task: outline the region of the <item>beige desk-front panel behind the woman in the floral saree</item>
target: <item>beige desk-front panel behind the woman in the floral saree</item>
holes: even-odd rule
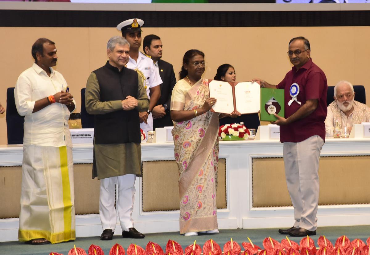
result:
[[[219,159],[217,208],[226,208],[226,160]],[[178,168],[174,160],[143,162],[143,211],[179,210]]]

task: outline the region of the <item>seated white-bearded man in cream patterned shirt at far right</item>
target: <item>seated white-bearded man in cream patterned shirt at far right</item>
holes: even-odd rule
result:
[[[334,101],[327,106],[325,119],[326,136],[333,137],[335,121],[339,128],[347,127],[351,132],[353,124],[370,121],[370,108],[364,103],[354,100],[353,85],[348,81],[340,81],[334,87]]]

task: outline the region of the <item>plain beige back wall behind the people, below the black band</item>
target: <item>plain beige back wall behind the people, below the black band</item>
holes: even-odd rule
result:
[[[232,27],[232,28],[146,28],[143,37],[158,34],[164,45],[163,59],[174,65],[176,78],[185,51],[197,48],[205,52],[208,65],[204,77],[213,78],[220,64],[234,65],[238,81],[255,77],[270,83],[280,82],[291,65],[286,55],[290,38],[304,35],[311,43],[313,61],[325,72],[329,85],[347,79],[370,91],[370,27]],[[0,27],[0,102],[5,104],[6,88],[14,86],[21,72],[31,66],[31,45],[39,37],[54,40],[58,65],[70,86],[80,111],[80,90],[91,71],[106,61],[106,44],[115,28]],[[343,35],[346,35],[343,40]],[[355,62],[356,60],[356,62]],[[370,92],[367,93],[370,102]],[[265,122],[263,122],[266,124]],[[6,130],[5,114],[0,129]],[[6,132],[0,133],[0,144],[6,144]]]

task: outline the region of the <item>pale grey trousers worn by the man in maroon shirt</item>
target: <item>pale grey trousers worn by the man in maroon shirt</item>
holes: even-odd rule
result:
[[[324,140],[311,136],[299,143],[284,142],[285,178],[294,207],[294,227],[314,231],[319,204],[319,160]]]

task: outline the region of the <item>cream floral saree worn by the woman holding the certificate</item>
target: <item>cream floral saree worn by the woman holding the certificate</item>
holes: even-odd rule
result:
[[[206,98],[209,98],[208,81],[201,79],[187,91],[184,110],[200,108]],[[208,111],[174,124],[180,234],[217,229],[218,114]]]

